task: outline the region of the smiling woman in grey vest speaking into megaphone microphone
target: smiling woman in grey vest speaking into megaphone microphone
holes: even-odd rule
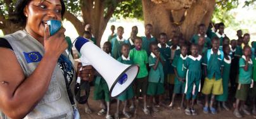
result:
[[[65,53],[65,28],[51,35],[47,24],[61,20],[64,13],[63,0],[17,0],[13,21],[25,29],[0,39],[0,110],[6,116],[79,118],[70,87],[76,75]],[[84,69],[79,76],[91,80],[93,68]]]

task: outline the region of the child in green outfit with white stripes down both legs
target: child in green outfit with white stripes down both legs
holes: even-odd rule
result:
[[[197,115],[194,108],[195,99],[200,91],[200,82],[202,77],[202,56],[198,54],[198,45],[191,45],[191,55],[186,58],[184,67],[186,72],[186,87],[184,93],[186,94],[187,107],[185,110],[186,115]],[[191,103],[192,98],[192,103]]]

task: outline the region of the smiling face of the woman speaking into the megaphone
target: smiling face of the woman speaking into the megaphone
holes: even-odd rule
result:
[[[30,35],[44,37],[44,25],[48,20],[61,20],[60,0],[32,0],[24,9],[27,16],[26,30]]]

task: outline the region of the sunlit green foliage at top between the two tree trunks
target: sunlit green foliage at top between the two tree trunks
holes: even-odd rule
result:
[[[130,0],[119,3],[113,16],[120,18],[137,18],[143,20],[141,0]]]

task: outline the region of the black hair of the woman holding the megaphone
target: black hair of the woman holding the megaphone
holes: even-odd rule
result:
[[[22,26],[25,26],[27,17],[24,15],[23,11],[27,4],[30,3],[31,0],[17,0],[15,4],[15,11],[10,15],[10,20],[13,23],[18,23]],[[41,0],[43,2],[44,0]],[[60,0],[61,3],[61,17],[63,17],[65,13],[65,3],[63,0]]]

